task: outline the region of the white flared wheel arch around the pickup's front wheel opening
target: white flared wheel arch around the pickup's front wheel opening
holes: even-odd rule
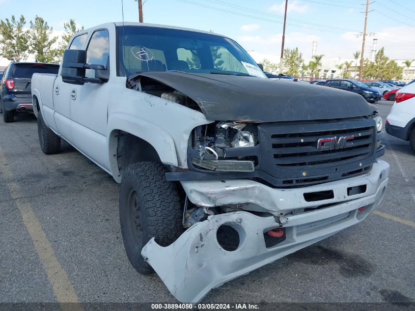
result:
[[[177,154],[174,141],[163,129],[144,119],[127,113],[112,113],[108,118],[107,144],[111,174],[116,182],[121,182],[117,158],[117,133],[124,131],[150,143],[162,163],[177,166]]]

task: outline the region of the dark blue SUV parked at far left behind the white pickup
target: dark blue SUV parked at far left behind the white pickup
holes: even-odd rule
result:
[[[59,65],[11,62],[0,82],[0,113],[4,122],[13,122],[17,112],[33,111],[30,81],[35,72],[57,74]]]

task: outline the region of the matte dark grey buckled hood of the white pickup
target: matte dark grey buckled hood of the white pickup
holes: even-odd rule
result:
[[[199,105],[209,120],[278,122],[371,115],[373,106],[353,92],[327,86],[245,76],[145,72]]]

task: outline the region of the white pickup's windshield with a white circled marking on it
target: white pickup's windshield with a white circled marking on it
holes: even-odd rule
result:
[[[178,70],[189,73],[241,74],[266,78],[235,41],[187,30],[118,27],[118,75]]]

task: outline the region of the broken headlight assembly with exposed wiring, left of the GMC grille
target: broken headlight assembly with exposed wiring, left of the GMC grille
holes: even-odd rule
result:
[[[254,147],[258,143],[257,127],[249,122],[217,122],[198,126],[193,132],[192,147],[198,152],[192,164],[200,169],[215,171],[254,171],[256,157],[226,155],[233,148]],[[195,154],[195,153],[193,153]],[[241,152],[242,154],[242,152]]]

